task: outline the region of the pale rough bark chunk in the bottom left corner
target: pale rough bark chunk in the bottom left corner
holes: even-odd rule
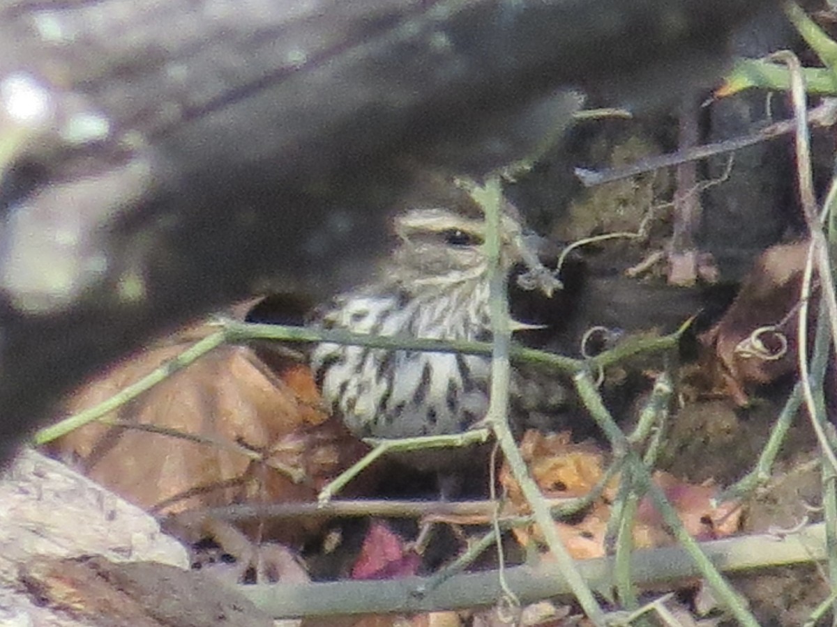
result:
[[[186,550],[162,533],[146,512],[34,451],[23,450],[0,476],[0,500],[3,624],[101,624],[91,619],[87,608],[98,609],[100,617],[107,619],[128,606],[131,599],[116,598],[116,590],[90,589],[88,582],[73,577],[78,567],[72,560],[84,556],[100,556],[101,563],[113,568],[126,562],[144,563],[135,568],[157,573],[158,585],[171,579],[172,573],[193,576],[184,570],[189,565]],[[217,599],[223,589],[216,586]],[[94,594],[103,592],[109,595],[106,600],[116,601],[110,608]],[[204,601],[207,598],[204,595]],[[188,604],[183,605],[184,613],[186,609]]]

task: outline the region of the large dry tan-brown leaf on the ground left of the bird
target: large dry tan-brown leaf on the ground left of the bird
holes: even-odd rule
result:
[[[67,401],[68,413],[110,398],[212,331],[187,329],[168,344],[136,354],[76,391]],[[363,451],[321,410],[307,367],[288,363],[276,372],[245,346],[215,349],[108,419],[202,439],[90,424],[52,446],[96,482],[157,512],[311,501],[318,487]],[[305,481],[295,482],[285,471]],[[284,527],[292,533],[280,539],[289,543],[306,534],[305,525]]]

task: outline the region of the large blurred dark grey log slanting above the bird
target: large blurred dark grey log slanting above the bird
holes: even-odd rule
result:
[[[417,164],[511,161],[566,124],[568,85],[650,102],[711,80],[757,9],[3,0],[0,457],[152,334],[351,280]]]

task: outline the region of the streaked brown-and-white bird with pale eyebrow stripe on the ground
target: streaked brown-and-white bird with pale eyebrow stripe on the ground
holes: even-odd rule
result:
[[[408,203],[395,217],[398,245],[377,280],[336,297],[321,308],[315,324],[362,334],[489,340],[480,207],[460,189],[448,198]],[[537,258],[529,252],[526,237],[521,218],[507,205],[501,264],[510,275],[516,267],[531,270]],[[490,359],[482,355],[319,344],[311,364],[326,401],[357,436],[459,433],[475,426],[488,408]],[[556,417],[566,412],[570,395],[555,375],[516,368],[511,399],[511,421],[520,430],[557,426]],[[458,465],[457,457],[453,451],[433,451],[411,456],[408,463],[439,470]]]

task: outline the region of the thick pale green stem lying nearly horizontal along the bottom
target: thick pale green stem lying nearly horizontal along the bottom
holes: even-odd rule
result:
[[[824,558],[824,524],[810,525],[783,538],[770,534],[738,536],[702,543],[701,547],[713,562],[730,572],[811,563]],[[639,549],[634,552],[632,562],[634,581],[644,587],[700,576],[681,547]],[[586,559],[578,567],[597,587],[608,580],[614,569],[612,558]],[[570,594],[561,573],[550,563],[513,566],[508,568],[507,575],[513,589],[527,602]],[[275,618],[465,609],[489,605],[498,593],[496,572],[463,573],[437,589],[429,589],[430,581],[430,578],[343,580],[326,584],[242,585],[236,589]]]

